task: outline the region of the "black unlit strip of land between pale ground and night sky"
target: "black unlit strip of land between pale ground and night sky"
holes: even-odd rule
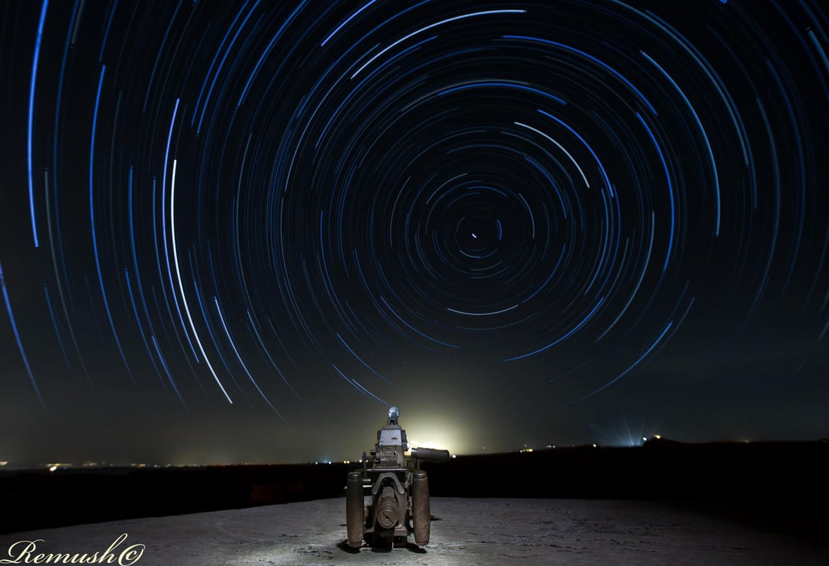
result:
[[[2,532],[342,496],[359,463],[0,473]],[[825,541],[829,442],[556,447],[422,462],[435,497],[658,501]]]

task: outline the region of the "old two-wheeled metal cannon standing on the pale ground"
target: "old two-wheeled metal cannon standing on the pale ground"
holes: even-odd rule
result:
[[[445,462],[448,450],[412,448],[406,432],[397,423],[400,409],[389,409],[389,420],[377,431],[371,458],[363,452],[362,467],[349,472],[346,486],[348,545],[359,548],[363,540],[371,546],[391,549],[395,541],[429,543],[429,480],[419,469],[420,460]]]

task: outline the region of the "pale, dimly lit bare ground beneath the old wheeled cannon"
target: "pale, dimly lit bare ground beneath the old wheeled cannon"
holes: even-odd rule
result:
[[[800,542],[643,501],[434,497],[432,514],[425,549],[352,554],[345,499],[337,498],[0,535],[0,564],[20,540],[44,539],[31,561],[38,553],[103,553],[122,533],[112,564],[131,544],[146,545],[136,566],[829,564],[829,535],[827,544]]]

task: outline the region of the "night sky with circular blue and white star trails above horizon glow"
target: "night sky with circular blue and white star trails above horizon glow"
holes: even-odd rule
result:
[[[829,436],[811,0],[11,0],[0,461]]]

